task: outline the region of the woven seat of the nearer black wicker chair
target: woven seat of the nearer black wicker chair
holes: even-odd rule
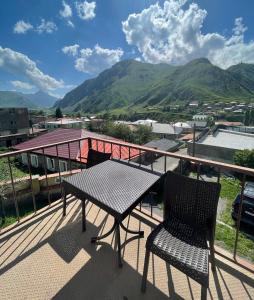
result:
[[[209,250],[206,232],[171,218],[158,225],[146,244],[152,251],[197,282],[208,287]]]

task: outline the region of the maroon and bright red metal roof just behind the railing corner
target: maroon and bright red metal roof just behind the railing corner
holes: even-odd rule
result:
[[[60,142],[64,142],[67,140],[78,139],[78,138],[86,137],[86,136],[108,139],[108,140],[112,140],[115,142],[121,141],[119,139],[115,139],[110,136],[97,134],[94,132],[89,132],[87,130],[59,128],[54,131],[40,135],[40,136],[33,138],[29,141],[26,141],[24,143],[18,144],[14,148],[16,150],[25,150],[28,148],[45,146],[45,145],[52,144],[52,143],[60,143]],[[110,153],[111,152],[111,143],[103,143],[100,141],[97,142],[96,140],[92,140],[92,148],[94,150],[97,150],[100,152],[105,151],[106,153]],[[33,151],[33,152],[41,154],[42,150]],[[56,147],[46,148],[46,149],[44,149],[44,153],[45,153],[45,155],[48,155],[48,156],[57,156]],[[70,143],[70,158],[72,160],[79,161],[80,160],[79,153],[80,153],[79,142]],[[86,162],[87,154],[88,154],[88,141],[84,140],[84,141],[81,141],[82,162]],[[130,158],[136,157],[138,155],[139,155],[139,150],[130,148]],[[64,158],[64,159],[69,158],[69,150],[68,150],[67,144],[58,146],[58,156],[60,158]],[[112,145],[112,157],[116,158],[116,159],[118,159],[118,158],[128,159],[129,158],[129,148],[127,146]]]

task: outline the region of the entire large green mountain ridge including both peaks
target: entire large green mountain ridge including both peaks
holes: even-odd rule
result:
[[[183,66],[126,60],[86,80],[55,106],[96,113],[131,106],[164,106],[179,101],[250,100],[254,99],[253,70],[254,65],[223,70],[206,58]]]

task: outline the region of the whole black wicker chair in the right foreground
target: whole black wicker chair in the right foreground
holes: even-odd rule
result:
[[[215,271],[214,233],[220,184],[168,172],[164,186],[164,222],[148,236],[142,278],[146,290],[150,252],[201,284],[201,299],[209,286],[209,250]]]

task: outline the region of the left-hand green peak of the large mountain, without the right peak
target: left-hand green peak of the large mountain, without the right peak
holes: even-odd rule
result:
[[[175,69],[167,64],[121,61],[98,77],[86,80],[55,106],[91,112],[124,107],[140,98]]]

